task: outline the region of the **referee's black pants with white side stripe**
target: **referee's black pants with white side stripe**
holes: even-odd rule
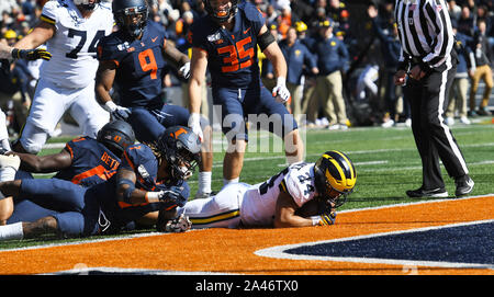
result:
[[[457,72],[456,59],[446,61],[419,81],[408,79],[404,95],[412,107],[412,132],[422,158],[423,189],[445,187],[439,158],[449,176],[468,174],[467,164],[442,118],[444,104]]]

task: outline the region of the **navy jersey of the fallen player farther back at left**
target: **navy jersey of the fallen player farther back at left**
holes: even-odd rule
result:
[[[119,157],[103,144],[90,137],[72,139],[65,145],[65,148],[70,152],[72,163],[54,176],[60,180],[91,186],[110,180],[120,165]]]

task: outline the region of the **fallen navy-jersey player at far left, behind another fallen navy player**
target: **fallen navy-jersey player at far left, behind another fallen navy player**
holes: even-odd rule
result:
[[[97,139],[87,136],[72,139],[58,153],[35,156],[10,151],[7,156],[0,156],[0,181],[33,179],[31,172],[57,172],[54,179],[91,186],[116,173],[122,153],[134,142],[135,136],[131,125],[124,121],[113,121],[98,132]],[[20,157],[20,167],[16,157]],[[16,167],[20,170],[15,173]],[[29,198],[16,196],[1,199],[0,225],[20,220],[32,221],[52,213],[46,213],[45,208]]]

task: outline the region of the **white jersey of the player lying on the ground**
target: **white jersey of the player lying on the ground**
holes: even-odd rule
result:
[[[240,206],[243,224],[271,226],[280,191],[289,193],[299,207],[313,199],[316,194],[314,163],[293,163],[267,182],[246,191]]]

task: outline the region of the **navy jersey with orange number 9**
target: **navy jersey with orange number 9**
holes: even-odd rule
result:
[[[167,43],[165,28],[147,22],[141,41],[128,37],[122,30],[102,38],[98,45],[98,59],[113,61],[116,67],[115,89],[120,104],[126,107],[162,103],[162,56]]]

